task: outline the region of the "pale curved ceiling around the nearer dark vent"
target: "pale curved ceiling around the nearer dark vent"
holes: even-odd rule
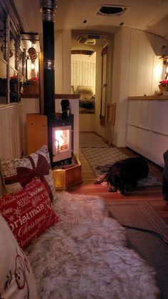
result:
[[[42,34],[39,0],[14,0],[23,31]],[[97,16],[99,6],[121,5],[130,9],[122,16]],[[83,23],[86,21],[86,23]],[[168,0],[58,0],[55,29],[114,34],[122,26],[144,30],[168,41]]]

